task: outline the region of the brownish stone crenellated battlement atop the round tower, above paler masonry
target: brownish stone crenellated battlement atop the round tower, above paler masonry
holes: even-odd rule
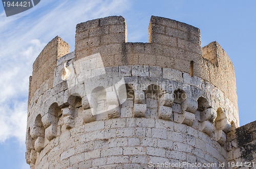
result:
[[[100,53],[104,67],[148,65],[177,69],[215,85],[237,108],[234,68],[217,42],[202,50],[198,28],[156,16],[151,17],[148,34],[149,43],[127,43],[126,24],[121,16],[79,23],[76,27],[75,58],[78,60]],[[42,82],[53,78],[56,60],[68,54],[69,49],[69,45],[59,37],[46,45],[33,66],[33,75],[37,78],[32,78],[32,84],[36,84],[30,88],[32,95]],[[37,75],[39,68],[41,71]]]

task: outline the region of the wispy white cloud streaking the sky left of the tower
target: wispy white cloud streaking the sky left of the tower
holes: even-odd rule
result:
[[[75,27],[89,19],[118,15],[129,1],[41,1],[11,17],[0,14],[0,142],[25,142],[27,96],[32,64],[56,35],[74,49]]]

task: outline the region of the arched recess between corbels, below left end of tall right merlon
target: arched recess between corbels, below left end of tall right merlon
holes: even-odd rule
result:
[[[164,94],[164,90],[156,84],[148,85],[145,91],[147,118],[158,118],[159,99]]]

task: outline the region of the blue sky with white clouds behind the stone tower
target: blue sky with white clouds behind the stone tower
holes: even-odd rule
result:
[[[255,6],[255,1],[42,0],[28,11],[6,17],[0,4],[1,166],[29,168],[25,161],[28,85],[40,51],[56,35],[74,51],[76,24],[109,15],[125,18],[129,42],[148,41],[151,15],[200,28],[202,46],[218,41],[233,62],[240,126],[256,120]]]

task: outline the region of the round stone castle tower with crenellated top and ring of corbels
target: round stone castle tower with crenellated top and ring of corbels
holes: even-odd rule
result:
[[[255,161],[256,123],[238,128],[222,47],[201,48],[198,28],[162,17],[151,17],[148,34],[148,43],[126,42],[124,18],[110,16],[79,23],[74,52],[58,36],[45,46],[29,85],[31,168]]]

